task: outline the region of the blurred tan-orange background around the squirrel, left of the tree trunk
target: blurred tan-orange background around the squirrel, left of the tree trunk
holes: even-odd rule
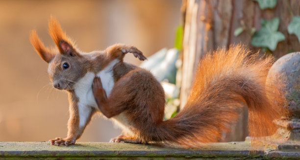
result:
[[[29,42],[36,29],[54,47],[50,15],[84,52],[125,43],[150,56],[174,46],[180,6],[181,0],[0,0],[0,141],[66,137],[67,94],[49,84],[48,64]],[[125,61],[140,64],[130,54]],[[120,132],[96,115],[78,141],[105,142]]]

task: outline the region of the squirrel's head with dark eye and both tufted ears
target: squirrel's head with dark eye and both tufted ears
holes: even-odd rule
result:
[[[73,90],[75,83],[87,72],[86,59],[75,49],[57,20],[52,17],[49,22],[49,32],[58,51],[46,48],[35,30],[30,35],[31,44],[41,58],[49,64],[48,74],[53,87]]]

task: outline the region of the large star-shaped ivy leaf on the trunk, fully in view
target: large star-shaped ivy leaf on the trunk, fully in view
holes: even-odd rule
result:
[[[261,25],[261,29],[254,33],[251,44],[255,47],[268,47],[274,51],[277,43],[285,39],[284,35],[277,31],[279,18],[276,17],[270,21],[262,20]]]

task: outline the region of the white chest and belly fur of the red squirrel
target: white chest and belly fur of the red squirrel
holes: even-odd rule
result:
[[[119,60],[113,60],[108,64],[106,68],[104,68],[97,74],[97,77],[100,77],[101,79],[103,89],[105,90],[108,97],[114,86],[113,66],[118,62]],[[79,99],[79,127],[85,125],[86,120],[90,114],[91,107],[99,110],[92,91],[94,78],[95,74],[93,72],[88,72],[75,84],[75,95]],[[127,129],[129,123],[124,113],[120,113],[114,117],[111,117],[111,120],[113,120],[119,127],[130,133],[130,131]]]

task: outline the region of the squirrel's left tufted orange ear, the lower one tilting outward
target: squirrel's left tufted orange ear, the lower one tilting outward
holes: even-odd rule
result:
[[[30,34],[30,42],[34,47],[35,51],[44,59],[47,63],[49,63],[55,54],[51,53],[48,48],[45,47],[43,42],[40,40],[35,30],[31,31]]]

